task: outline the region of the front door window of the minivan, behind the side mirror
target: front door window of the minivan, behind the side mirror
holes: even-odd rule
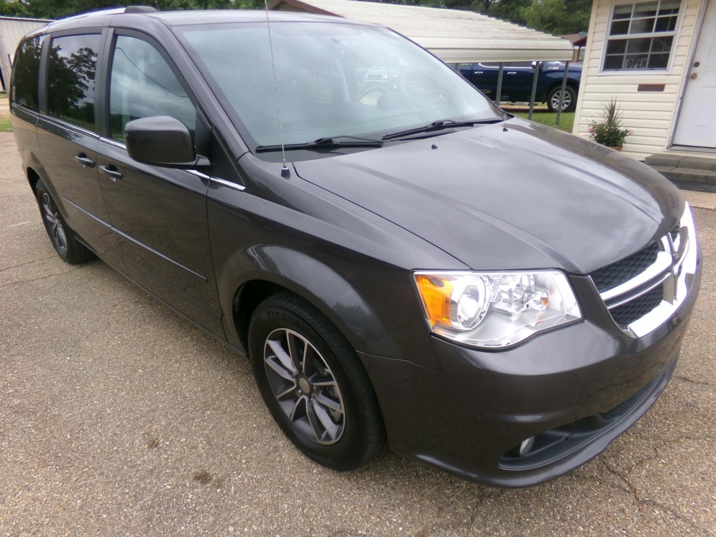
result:
[[[135,37],[115,42],[110,80],[110,130],[124,140],[125,125],[141,117],[168,115],[194,133],[196,110],[161,54]]]

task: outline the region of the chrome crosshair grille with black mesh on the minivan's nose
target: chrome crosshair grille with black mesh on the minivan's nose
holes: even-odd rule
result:
[[[632,337],[643,337],[683,303],[696,273],[697,251],[687,204],[681,222],[669,233],[590,276],[616,325]]]

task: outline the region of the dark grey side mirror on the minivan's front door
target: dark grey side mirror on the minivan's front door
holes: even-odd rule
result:
[[[128,122],[125,144],[130,158],[140,163],[165,168],[208,165],[206,158],[196,155],[189,129],[174,117],[142,117]]]

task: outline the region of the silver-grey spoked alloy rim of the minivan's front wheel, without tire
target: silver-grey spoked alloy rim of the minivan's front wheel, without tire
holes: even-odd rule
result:
[[[346,425],[343,397],[318,349],[298,332],[276,329],[266,338],[263,364],[294,427],[319,444],[338,442]]]

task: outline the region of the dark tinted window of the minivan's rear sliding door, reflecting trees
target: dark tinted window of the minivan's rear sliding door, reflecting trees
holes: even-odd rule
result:
[[[100,34],[52,39],[47,73],[49,115],[95,130],[95,71]]]

